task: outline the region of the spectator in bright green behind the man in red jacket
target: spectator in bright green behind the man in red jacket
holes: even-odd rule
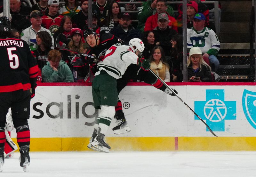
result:
[[[139,10],[139,13],[138,13],[138,20],[139,20],[138,28],[140,29],[141,32],[149,30],[149,29],[144,30],[145,22],[147,21],[148,17],[157,13],[155,9],[156,9],[156,3],[158,1],[159,0],[148,0],[147,2],[144,2],[142,4],[142,6],[140,7],[140,10]],[[160,12],[160,13],[162,13],[162,12]],[[167,5],[166,10],[164,11],[164,13],[167,13],[170,16],[174,17],[173,9],[169,5]],[[156,17],[156,21],[157,21],[157,17]],[[155,21],[155,23],[156,23],[156,21]],[[156,25],[155,25],[155,27],[156,27]],[[151,29],[151,30],[153,30],[153,29]]]

